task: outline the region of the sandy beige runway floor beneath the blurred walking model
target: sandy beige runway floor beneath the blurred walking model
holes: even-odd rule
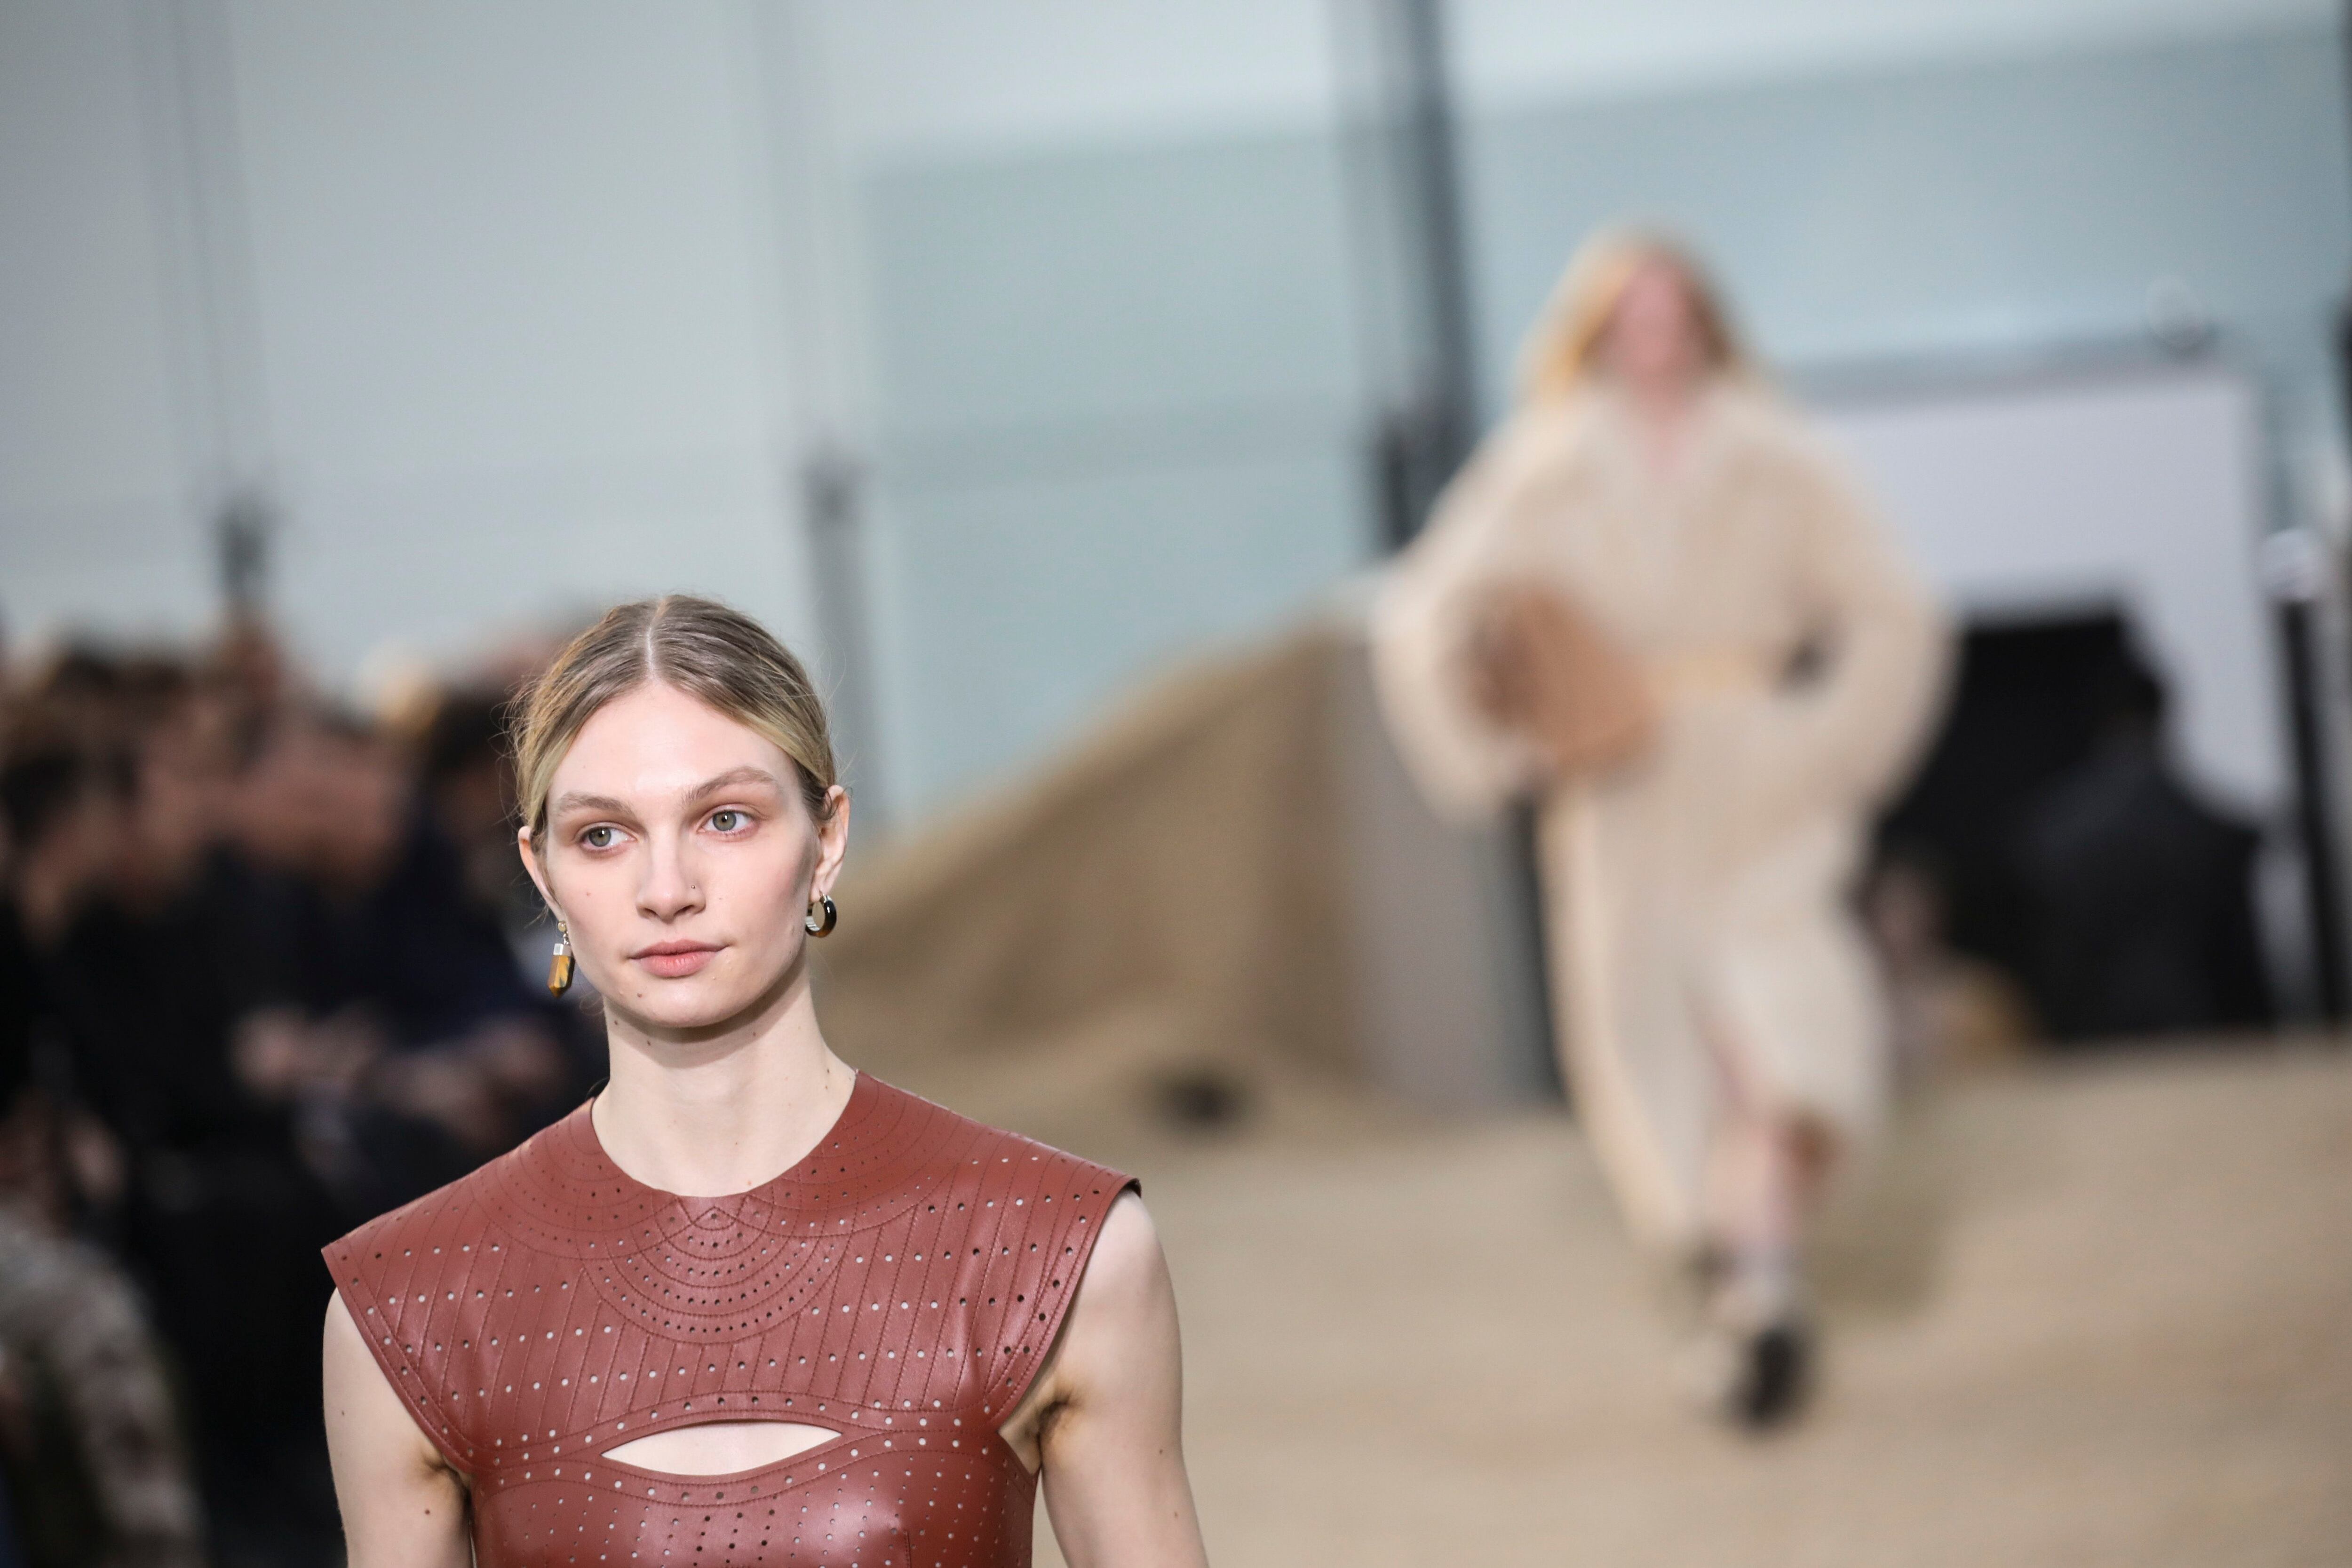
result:
[[[1117,1143],[1221,1568],[2352,1563],[2340,1046],[1915,1103],[1823,1246],[1820,1399],[1769,1441],[1682,1399],[1672,1295],[1564,1117],[1277,1103]]]

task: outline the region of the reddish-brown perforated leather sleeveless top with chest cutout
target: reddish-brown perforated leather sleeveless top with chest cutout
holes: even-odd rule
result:
[[[1000,1568],[1030,1561],[1037,1479],[997,1425],[1129,1185],[858,1074],[753,1192],[630,1180],[583,1105],[327,1265],[468,1479],[482,1568]],[[840,1436],[727,1476],[602,1458],[717,1420]]]

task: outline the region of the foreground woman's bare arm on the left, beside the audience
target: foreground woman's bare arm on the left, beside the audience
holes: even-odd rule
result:
[[[327,1305],[325,1373],[350,1568],[468,1568],[466,1483],[383,1380],[341,1295]]]

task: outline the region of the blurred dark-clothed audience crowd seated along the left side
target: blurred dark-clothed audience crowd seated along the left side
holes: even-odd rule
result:
[[[517,961],[534,905],[499,701],[452,691],[393,731],[306,693],[254,625],[202,656],[75,649],[7,693],[0,1030],[42,1107],[9,1192],[47,1220],[0,1222],[0,1251],[45,1258],[0,1262],[0,1349],[66,1321],[132,1366],[151,1319],[223,1563],[339,1561],[301,1349],[332,1288],[318,1248],[546,1126],[595,1072],[600,1032]],[[118,1406],[153,1418],[162,1389]],[[106,1420],[129,1418],[89,1406],[85,1427]],[[151,1453],[176,1453],[162,1436]],[[167,1561],[136,1521],[169,1509],[85,1472],[122,1521],[108,1540]],[[7,1481],[35,1568],[118,1561],[54,1556],[35,1535],[56,1479]],[[193,1502],[179,1519],[195,1561]]]

